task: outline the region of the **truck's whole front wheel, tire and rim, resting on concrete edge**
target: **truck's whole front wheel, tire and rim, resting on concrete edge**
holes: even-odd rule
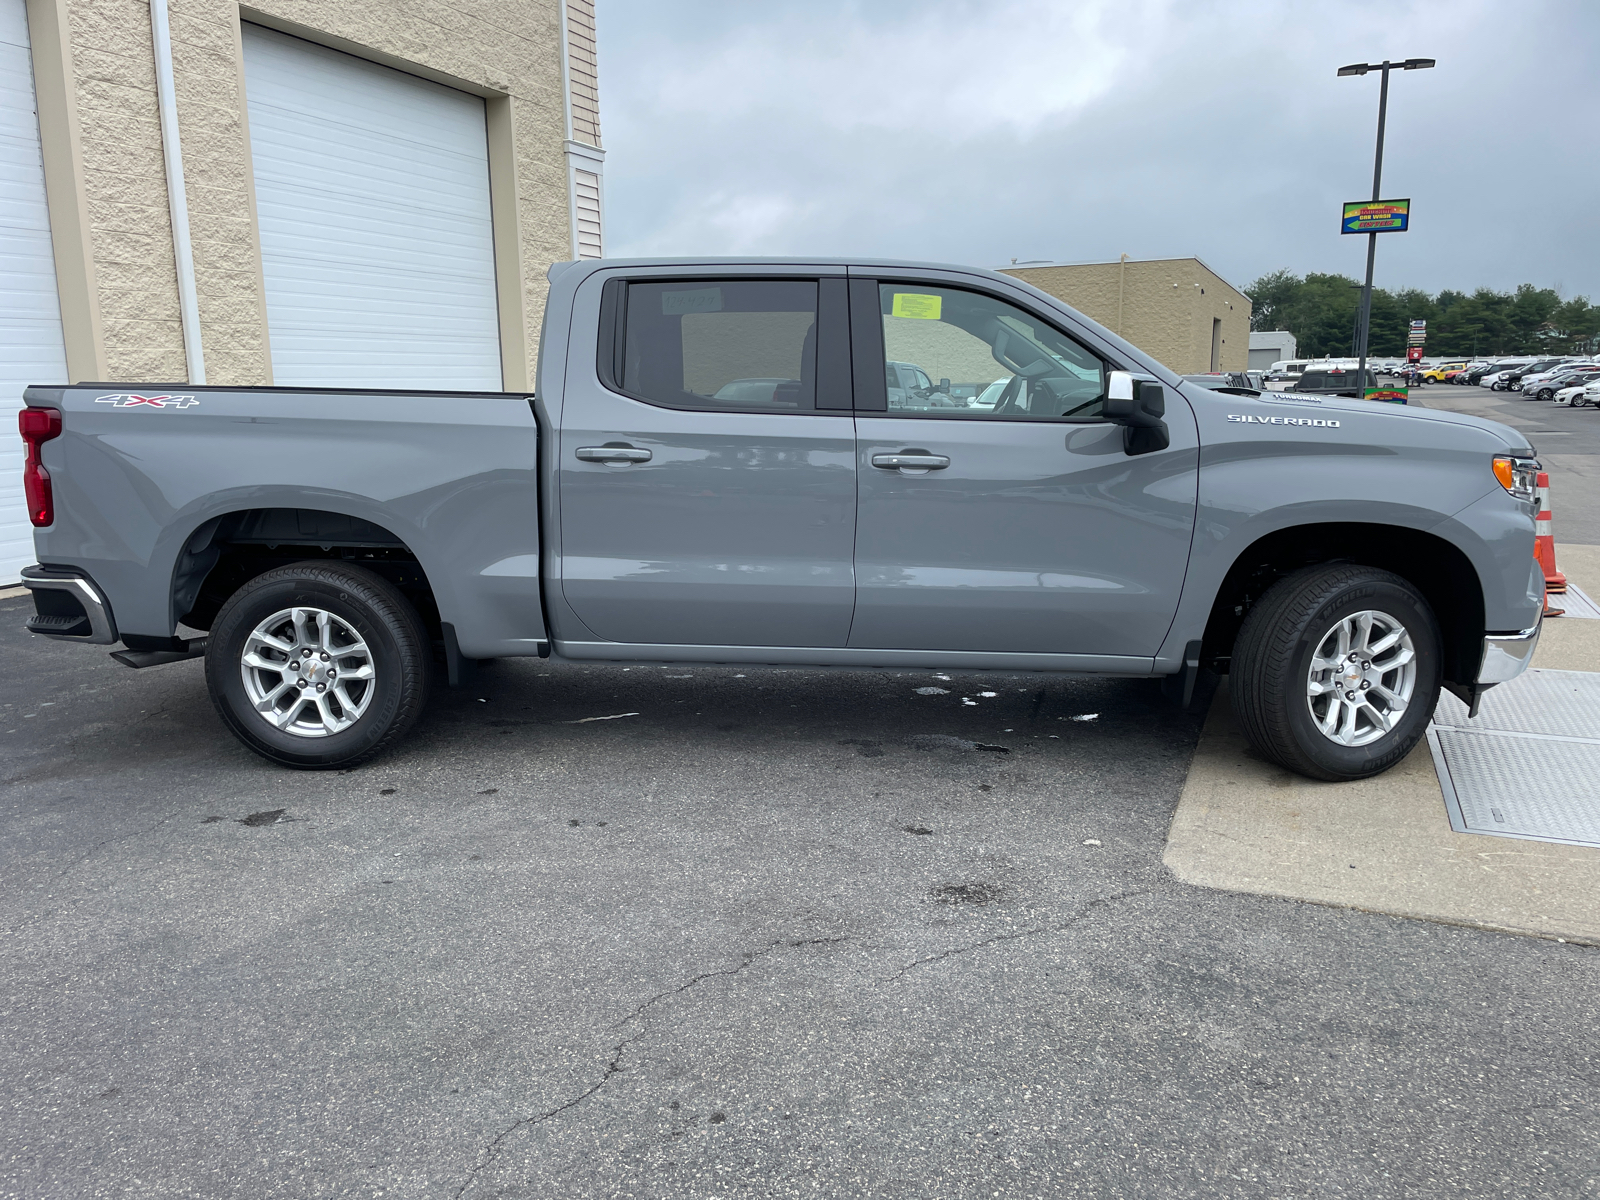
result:
[[[1309,566],[1250,610],[1230,688],[1245,736],[1310,779],[1365,779],[1411,752],[1438,702],[1427,600],[1371,566]]]

